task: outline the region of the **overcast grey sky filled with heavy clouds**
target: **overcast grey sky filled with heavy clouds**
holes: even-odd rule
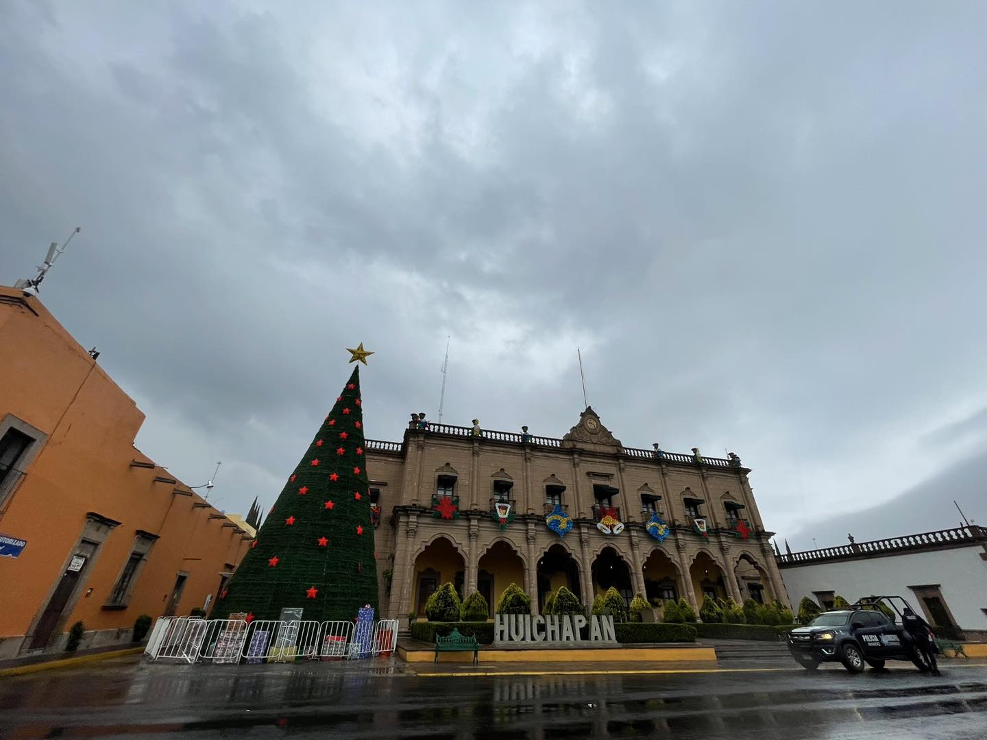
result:
[[[279,491],[343,347],[397,440],[450,335],[445,421],[561,436],[578,345],[616,436],[736,451],[793,548],[954,526],[952,498],[987,523],[985,28],[978,1],[6,0],[0,281],[81,225],[42,299],[231,511]]]

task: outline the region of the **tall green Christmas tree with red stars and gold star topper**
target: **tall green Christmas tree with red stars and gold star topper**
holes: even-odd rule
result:
[[[360,344],[353,359],[370,354]],[[212,619],[351,621],[377,606],[359,367],[274,502],[252,548],[219,594]]]

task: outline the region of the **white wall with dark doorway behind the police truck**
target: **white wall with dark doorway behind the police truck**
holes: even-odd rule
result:
[[[864,596],[903,596],[922,614],[909,586],[939,585],[960,629],[987,629],[987,560],[979,547],[903,553],[781,568],[794,609],[813,591],[833,591],[850,602]]]

